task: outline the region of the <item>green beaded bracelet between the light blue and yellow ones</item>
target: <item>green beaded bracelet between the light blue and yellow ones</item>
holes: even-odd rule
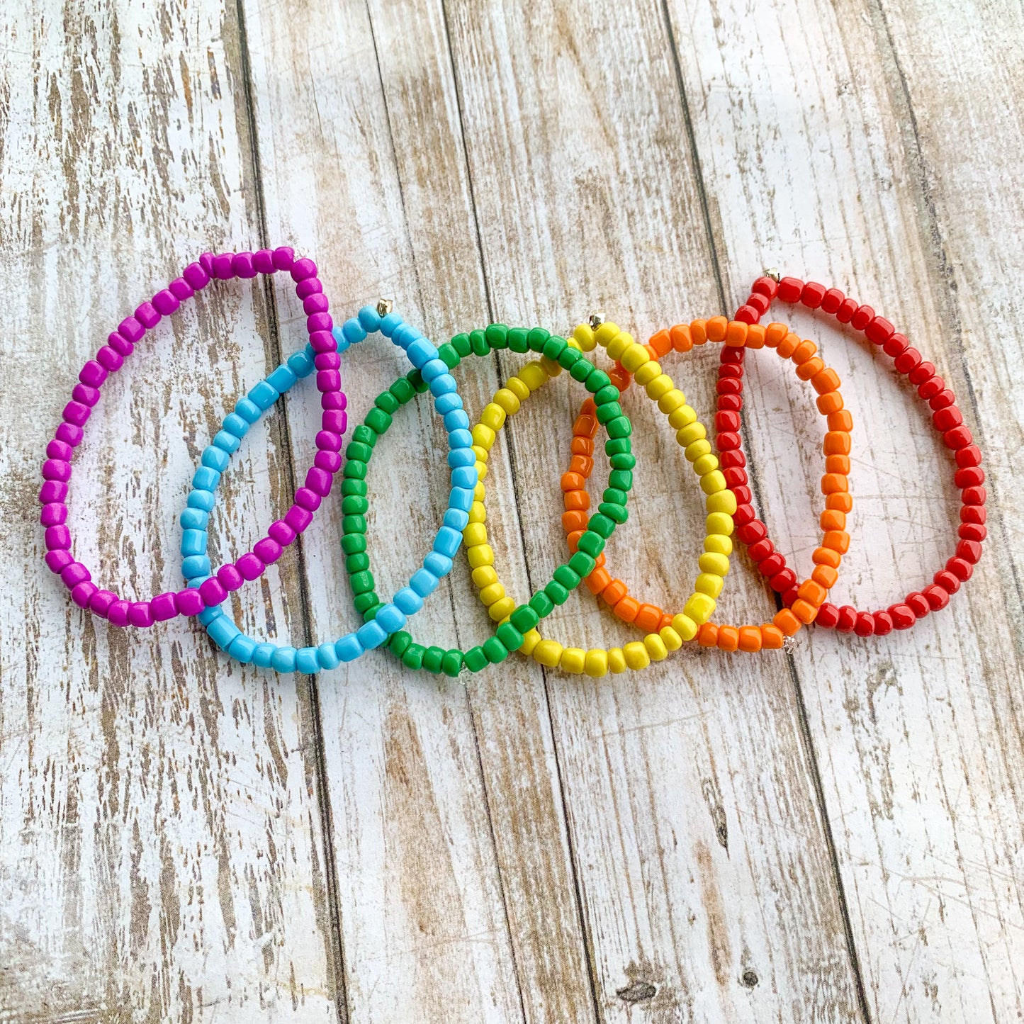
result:
[[[488,355],[494,349],[508,348],[514,352],[537,352],[552,362],[557,362],[569,372],[574,380],[583,383],[594,397],[600,398],[598,409],[602,411],[602,422],[608,433],[605,442],[605,453],[609,459],[616,455],[630,454],[632,451],[630,435],[633,428],[629,418],[618,406],[618,389],[603,370],[599,370],[583,353],[571,347],[565,338],[552,335],[543,328],[508,328],[504,324],[492,324],[485,331],[471,331],[469,334],[456,335],[451,343],[438,346],[438,355],[450,370],[456,367],[467,355]],[[352,440],[345,449],[347,460],[355,460],[369,466],[378,438],[387,432],[391,425],[391,415],[406,404],[414,394],[427,389],[418,370],[414,370],[378,395],[374,409],[370,411],[362,424],[352,431]],[[475,438],[474,438],[475,440]],[[478,463],[478,468],[479,468]],[[614,463],[612,464],[614,468]],[[356,610],[366,622],[376,615],[383,602],[377,596],[373,571],[370,567],[370,556],[367,550],[367,520],[370,502],[366,482],[367,473],[350,476],[343,471],[342,480],[342,538],[341,547],[345,553],[345,569],[354,595]],[[555,570],[551,583],[539,590],[526,604],[515,607],[511,614],[499,625],[495,636],[483,644],[471,647],[467,651],[453,648],[444,650],[441,647],[425,647],[416,643],[412,636],[401,630],[395,633],[387,646],[392,653],[401,658],[402,664],[410,669],[426,669],[429,672],[441,673],[447,676],[458,676],[465,667],[471,672],[479,672],[487,665],[496,665],[505,660],[511,651],[518,650],[526,642],[526,636],[534,631],[541,618],[554,610],[554,603],[548,592],[562,587],[569,589],[579,586],[596,564],[596,558],[604,549],[605,542],[611,536],[617,522],[625,522],[627,517],[626,500],[629,487],[622,489],[622,502],[616,503],[605,522],[601,517],[601,532],[588,529],[580,538],[577,553],[564,565]],[[610,509],[610,506],[609,506]],[[465,526],[464,537],[470,543],[474,523]]]

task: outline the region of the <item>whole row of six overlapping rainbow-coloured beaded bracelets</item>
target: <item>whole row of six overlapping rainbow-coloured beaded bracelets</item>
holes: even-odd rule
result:
[[[187,586],[145,601],[128,601],[92,582],[89,570],[71,554],[71,532],[65,504],[71,477],[71,458],[81,442],[83,428],[99,399],[108,376],[121,369],[124,359],[164,316],[174,313],[180,303],[204,289],[211,280],[251,279],[257,273],[288,272],[306,313],[308,344],[280,366],[265,380],[241,398],[221,425],[211,444],[203,452],[193,478],[186,507],[181,513],[182,574]],[[840,380],[817,354],[809,340],[793,334],[785,325],[762,327],[761,316],[774,299],[822,309],[840,324],[849,324],[863,333],[894,359],[896,369],[918,388],[929,403],[934,427],[953,453],[954,482],[961,490],[962,510],[958,543],[945,566],[920,592],[908,594],[887,609],[858,612],[850,605],[837,606],[827,600],[838,580],[843,554],[850,537],[847,516],[852,508],[847,476],[850,469],[850,430],[853,421],[839,390]],[[369,334],[390,338],[408,354],[413,370],[380,394],[364,423],[356,427],[344,447],[346,401],[341,390],[341,355],[351,344]],[[671,351],[687,352],[706,342],[723,343],[718,381],[718,410],[715,416],[715,443],[712,451],[708,431],[685,395],[664,373],[659,359]],[[585,357],[597,346],[615,360],[609,373]],[[742,452],[740,414],[742,370],[748,348],[775,348],[796,366],[797,376],[817,392],[818,411],[827,420],[822,444],[825,471],[821,490],[825,508],[821,513],[823,531],[820,547],[812,556],[814,570],[798,584],[785,558],[775,550],[767,527],[757,517],[748,486]],[[500,388],[470,428],[458,386],[451,371],[468,355],[486,356],[496,349],[536,353],[539,359],[526,364]],[[569,560],[552,580],[525,604],[508,596],[495,567],[495,552],[488,544],[484,508],[483,477],[498,432],[522,401],[551,377],[567,370],[590,392],[573,426],[569,466],[561,480],[564,512],[562,525],[570,549]],[[294,504],[271,524],[267,536],[238,561],[213,573],[207,556],[207,528],[215,505],[215,493],[230,456],[239,450],[249,427],[298,380],[316,371],[323,414],[316,434],[316,456],[304,485],[297,488]],[[627,500],[633,485],[636,459],[632,453],[632,426],[620,404],[621,391],[633,378],[655,401],[676,431],[676,440],[692,464],[703,494],[707,513],[703,553],[693,592],[676,614],[659,606],[641,603],[625,583],[612,579],[605,564],[604,547],[615,525],[627,518]],[[449,508],[422,566],[392,601],[383,602],[375,591],[367,543],[366,515],[370,508],[367,474],[374,447],[388,430],[392,416],[417,393],[430,391],[434,408],[442,418],[449,436],[447,463],[451,470]],[[595,515],[589,516],[590,498],[586,482],[594,468],[594,437],[600,426],[607,432],[605,452],[610,463],[608,486]],[[541,328],[507,328],[493,324],[484,330],[456,335],[450,343],[434,347],[415,328],[393,313],[390,304],[375,309],[367,306],[356,317],[336,327],[329,302],[309,259],[296,259],[287,247],[256,253],[206,253],[184,268],[167,289],[143,302],[113,332],[105,345],[79,375],[72,400],[65,408],[62,422],[47,446],[43,464],[44,483],[40,492],[40,516],[45,526],[46,562],[71,590],[72,599],[84,609],[105,617],[115,626],[148,627],[175,615],[196,615],[211,638],[236,660],[252,663],[280,672],[312,673],[337,668],[368,650],[386,646],[411,669],[427,669],[458,675],[463,668],[477,672],[503,662],[510,652],[522,651],[548,668],[598,677],[606,672],[638,670],[666,658],[688,641],[722,650],[758,651],[779,649],[786,638],[802,626],[815,622],[860,636],[885,635],[907,629],[931,611],[944,607],[949,596],[970,579],[981,556],[985,539],[984,471],[981,453],[964,424],[952,391],[937,376],[935,367],[924,360],[916,349],[898,334],[892,324],[867,306],[858,305],[837,289],[825,289],[795,278],[759,278],[752,294],[733,321],[724,316],[696,319],[688,325],[656,332],[648,344],[637,344],[614,324],[592,319],[581,325],[571,338],[552,335]],[[342,470],[342,548],[355,608],[362,625],[334,642],[296,649],[287,645],[260,643],[246,636],[224,612],[222,604],[231,591],[257,579],[275,562],[285,547],[312,521],[313,514],[332,490],[334,477]],[[710,622],[729,571],[733,538],[746,546],[761,573],[782,602],[771,623],[761,626],[724,626]],[[480,600],[496,624],[494,636],[466,651],[424,646],[406,631],[411,615],[422,606],[440,580],[452,569],[460,546],[467,558]],[[541,618],[564,603],[571,590],[585,581],[592,594],[607,604],[615,615],[636,624],[643,639],[610,649],[563,645],[545,639],[538,630]]]

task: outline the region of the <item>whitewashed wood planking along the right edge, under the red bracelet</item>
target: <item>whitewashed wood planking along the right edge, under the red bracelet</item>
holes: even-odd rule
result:
[[[1019,523],[1005,496],[1019,475],[1009,381],[1022,362],[1013,282],[1024,259],[1000,230],[1021,206],[1020,132],[990,103],[1013,75],[993,58],[1013,31],[975,5],[887,4],[885,16],[813,2],[669,9],[730,301],[763,265],[835,282],[940,367],[984,446],[995,525],[967,592],[909,635],[814,634],[796,666],[870,1013],[1016,1019],[1024,671]],[[888,360],[827,321],[800,323],[823,343],[857,421],[854,540],[836,594],[884,607],[951,553],[950,460]],[[820,468],[813,455],[796,460],[777,427],[794,408],[809,453],[818,428],[776,368],[757,360],[751,380],[767,520],[806,562]],[[984,396],[977,411],[971,390]]]

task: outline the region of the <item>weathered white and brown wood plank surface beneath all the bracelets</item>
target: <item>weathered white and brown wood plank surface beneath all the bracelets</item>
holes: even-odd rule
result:
[[[1004,98],[1024,86],[1021,12],[9,6],[0,1020],[1021,1019],[1024,139]],[[490,318],[565,331],[595,308],[642,337],[731,310],[766,264],[835,281],[953,382],[988,457],[988,553],[910,635],[683,652],[596,684],[510,660],[465,687],[384,654],[279,679],[186,625],[113,636],[40,569],[43,440],[74,370],[157,283],[205,248],[279,240],[316,258],[336,309],[390,294],[436,339]],[[889,603],[948,554],[947,458],[871,354],[792,318],[857,417],[839,588]],[[130,592],[173,583],[196,457],[301,342],[301,310],[283,284],[232,285],[161,330],[76,463],[78,550]],[[356,417],[402,367],[379,344],[349,356]],[[479,410],[519,358],[473,362],[460,381]],[[821,428],[784,368],[750,362],[757,492],[802,565]],[[705,415],[714,366],[671,371]],[[237,457],[215,554],[251,542],[308,463],[310,390]],[[563,556],[553,510],[581,397],[548,385],[492,458],[489,527],[523,597]],[[609,562],[679,601],[696,488],[649,403],[627,403],[637,501]],[[375,456],[382,593],[443,508],[438,428],[418,401]],[[249,627],[351,628],[339,521],[329,503],[258,597],[241,592]],[[744,559],[734,573],[723,611],[769,615]],[[465,646],[488,627],[453,577],[414,633]],[[548,632],[627,636],[587,594]]]

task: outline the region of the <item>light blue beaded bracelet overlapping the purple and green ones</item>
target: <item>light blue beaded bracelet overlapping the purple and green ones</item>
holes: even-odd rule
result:
[[[318,647],[295,647],[274,643],[258,643],[246,636],[224,611],[222,604],[211,604],[200,612],[199,621],[222,650],[243,665],[253,664],[260,668],[272,668],[278,672],[303,672],[311,674],[325,669],[336,669],[343,662],[352,662],[360,654],[381,646],[388,637],[406,626],[408,616],[423,607],[423,599],[436,590],[438,583],[452,570],[452,559],[462,543],[462,531],[469,522],[469,509],[476,487],[475,458],[470,458],[473,438],[469,432],[469,417],[462,408],[455,378],[447,366],[439,357],[437,349],[416,328],[403,323],[397,313],[381,311],[373,306],[365,306],[357,317],[352,317],[341,327],[333,329],[338,343],[338,352],[362,341],[368,334],[380,332],[390,338],[409,355],[410,361],[423,375],[434,396],[434,409],[442,417],[449,434],[449,465],[452,467],[452,490],[449,507],[429,554],[423,565],[394,599],[382,605],[375,617],[359,629],[348,633],[334,643],[323,643]],[[381,315],[385,312],[385,315]],[[203,453],[202,465],[193,479],[193,490],[188,495],[187,507],[181,513],[183,534],[181,538],[182,574],[188,587],[222,588],[234,590],[243,579],[233,565],[222,566],[216,577],[210,575],[210,559],[207,557],[207,523],[213,509],[220,476],[227,468],[230,456],[238,451],[242,437],[249,427],[273,404],[276,397],[287,391],[299,378],[308,376],[314,368],[314,354],[307,345],[305,349],[292,355],[286,365],[279,367],[262,384],[250,391],[248,399],[242,399],[237,411],[224,418],[222,429],[214,438],[214,443]],[[252,406],[243,406],[247,402]],[[242,414],[238,412],[242,408]],[[322,432],[323,433],[323,432]],[[319,444],[322,434],[317,435]],[[339,445],[340,446],[340,445]],[[321,447],[317,458],[326,456],[323,469],[336,471],[340,463],[339,452]],[[333,458],[332,458],[333,457]],[[346,467],[346,473],[358,472],[358,460],[350,460],[353,469]],[[254,549],[263,562],[273,561],[281,553],[276,530],[283,530],[280,540],[288,543],[291,527],[279,521],[271,526],[269,538],[263,550]],[[294,535],[292,535],[294,536]],[[264,542],[261,542],[261,544]],[[259,548],[259,545],[257,545]],[[274,551],[276,548],[276,551]],[[240,561],[241,564],[241,561]],[[244,566],[243,566],[244,568]]]

